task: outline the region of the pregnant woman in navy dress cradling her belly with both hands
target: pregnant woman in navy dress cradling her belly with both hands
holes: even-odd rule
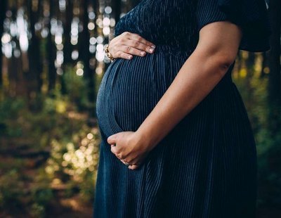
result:
[[[119,20],[94,218],[255,217],[256,145],[231,72],[239,49],[269,49],[266,13],[263,0],[143,0]]]

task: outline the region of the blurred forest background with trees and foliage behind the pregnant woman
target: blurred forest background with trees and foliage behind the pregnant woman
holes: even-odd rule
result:
[[[91,217],[104,48],[138,2],[0,1],[0,217]],[[270,51],[240,51],[233,70],[258,150],[257,217],[281,217],[280,4]]]

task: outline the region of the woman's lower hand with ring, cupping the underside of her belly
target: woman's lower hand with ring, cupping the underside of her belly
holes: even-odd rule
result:
[[[136,132],[119,132],[107,138],[111,145],[111,152],[125,165],[129,163],[129,169],[137,169],[150,152],[145,139]]]

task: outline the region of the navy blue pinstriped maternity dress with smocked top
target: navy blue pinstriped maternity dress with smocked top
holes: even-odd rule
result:
[[[117,58],[98,90],[100,159],[94,218],[254,217],[256,145],[229,68],[214,89],[131,170],[107,137],[136,131],[188,59],[204,25],[240,25],[240,49],[269,49],[263,0],[143,0],[115,27],[156,45],[155,53]],[[223,32],[221,33],[223,34]]]

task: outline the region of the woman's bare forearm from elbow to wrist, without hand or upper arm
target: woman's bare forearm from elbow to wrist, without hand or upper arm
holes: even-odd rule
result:
[[[228,70],[220,56],[193,53],[136,134],[151,150],[202,101]]]

